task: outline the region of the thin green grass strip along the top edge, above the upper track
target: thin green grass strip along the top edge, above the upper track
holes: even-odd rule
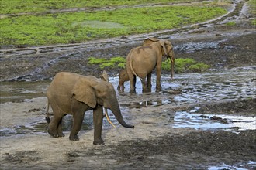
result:
[[[52,9],[63,8],[115,7],[170,2],[196,2],[196,0],[1,0],[0,13],[47,12]]]

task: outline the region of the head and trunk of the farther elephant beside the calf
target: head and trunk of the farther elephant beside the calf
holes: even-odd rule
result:
[[[144,40],[143,46],[150,46],[153,43],[160,43],[162,46],[163,56],[166,56],[167,59],[171,59],[171,80],[172,80],[174,75],[174,67],[175,67],[175,53],[173,52],[173,46],[171,45],[171,42],[159,40],[156,38],[148,38]]]

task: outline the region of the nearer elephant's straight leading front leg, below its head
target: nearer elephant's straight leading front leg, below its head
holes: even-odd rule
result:
[[[97,106],[93,110],[93,124],[94,124],[94,145],[104,145],[102,140],[102,121],[103,121],[103,109],[101,106]]]

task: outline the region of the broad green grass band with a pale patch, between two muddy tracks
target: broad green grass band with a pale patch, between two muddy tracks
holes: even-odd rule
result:
[[[227,11],[209,6],[123,8],[113,11],[67,12],[47,15],[21,15],[1,19],[2,45],[41,46],[86,42],[115,36],[154,32],[203,22]],[[97,21],[103,26],[86,22]],[[104,26],[104,23],[118,26]]]

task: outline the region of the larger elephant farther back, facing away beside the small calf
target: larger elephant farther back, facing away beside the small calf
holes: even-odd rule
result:
[[[162,57],[171,59],[171,80],[174,74],[175,55],[171,42],[155,38],[145,39],[143,46],[130,50],[126,57],[126,72],[130,80],[130,93],[135,93],[136,76],[140,77],[143,93],[151,90],[151,74],[156,68],[157,91],[161,90],[161,62]],[[146,81],[147,78],[147,81]]]

